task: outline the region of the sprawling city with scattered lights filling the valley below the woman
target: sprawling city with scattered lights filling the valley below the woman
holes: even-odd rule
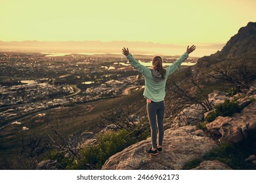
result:
[[[135,55],[135,58],[150,67],[152,56]],[[163,56],[164,64],[170,65],[178,58]],[[187,61],[184,65],[193,65],[197,58]],[[30,134],[35,127],[40,130],[46,118],[55,120],[56,110],[65,111],[60,115],[62,124],[65,120],[68,124],[78,123],[79,118],[75,116],[79,116],[79,112],[85,115],[95,107],[90,103],[129,95],[141,88],[144,88],[142,75],[121,54],[59,56],[0,52],[2,147],[11,148],[3,144],[11,143],[12,138],[17,140],[18,134]],[[77,108],[72,110],[72,107]],[[84,116],[82,120],[87,121]]]

